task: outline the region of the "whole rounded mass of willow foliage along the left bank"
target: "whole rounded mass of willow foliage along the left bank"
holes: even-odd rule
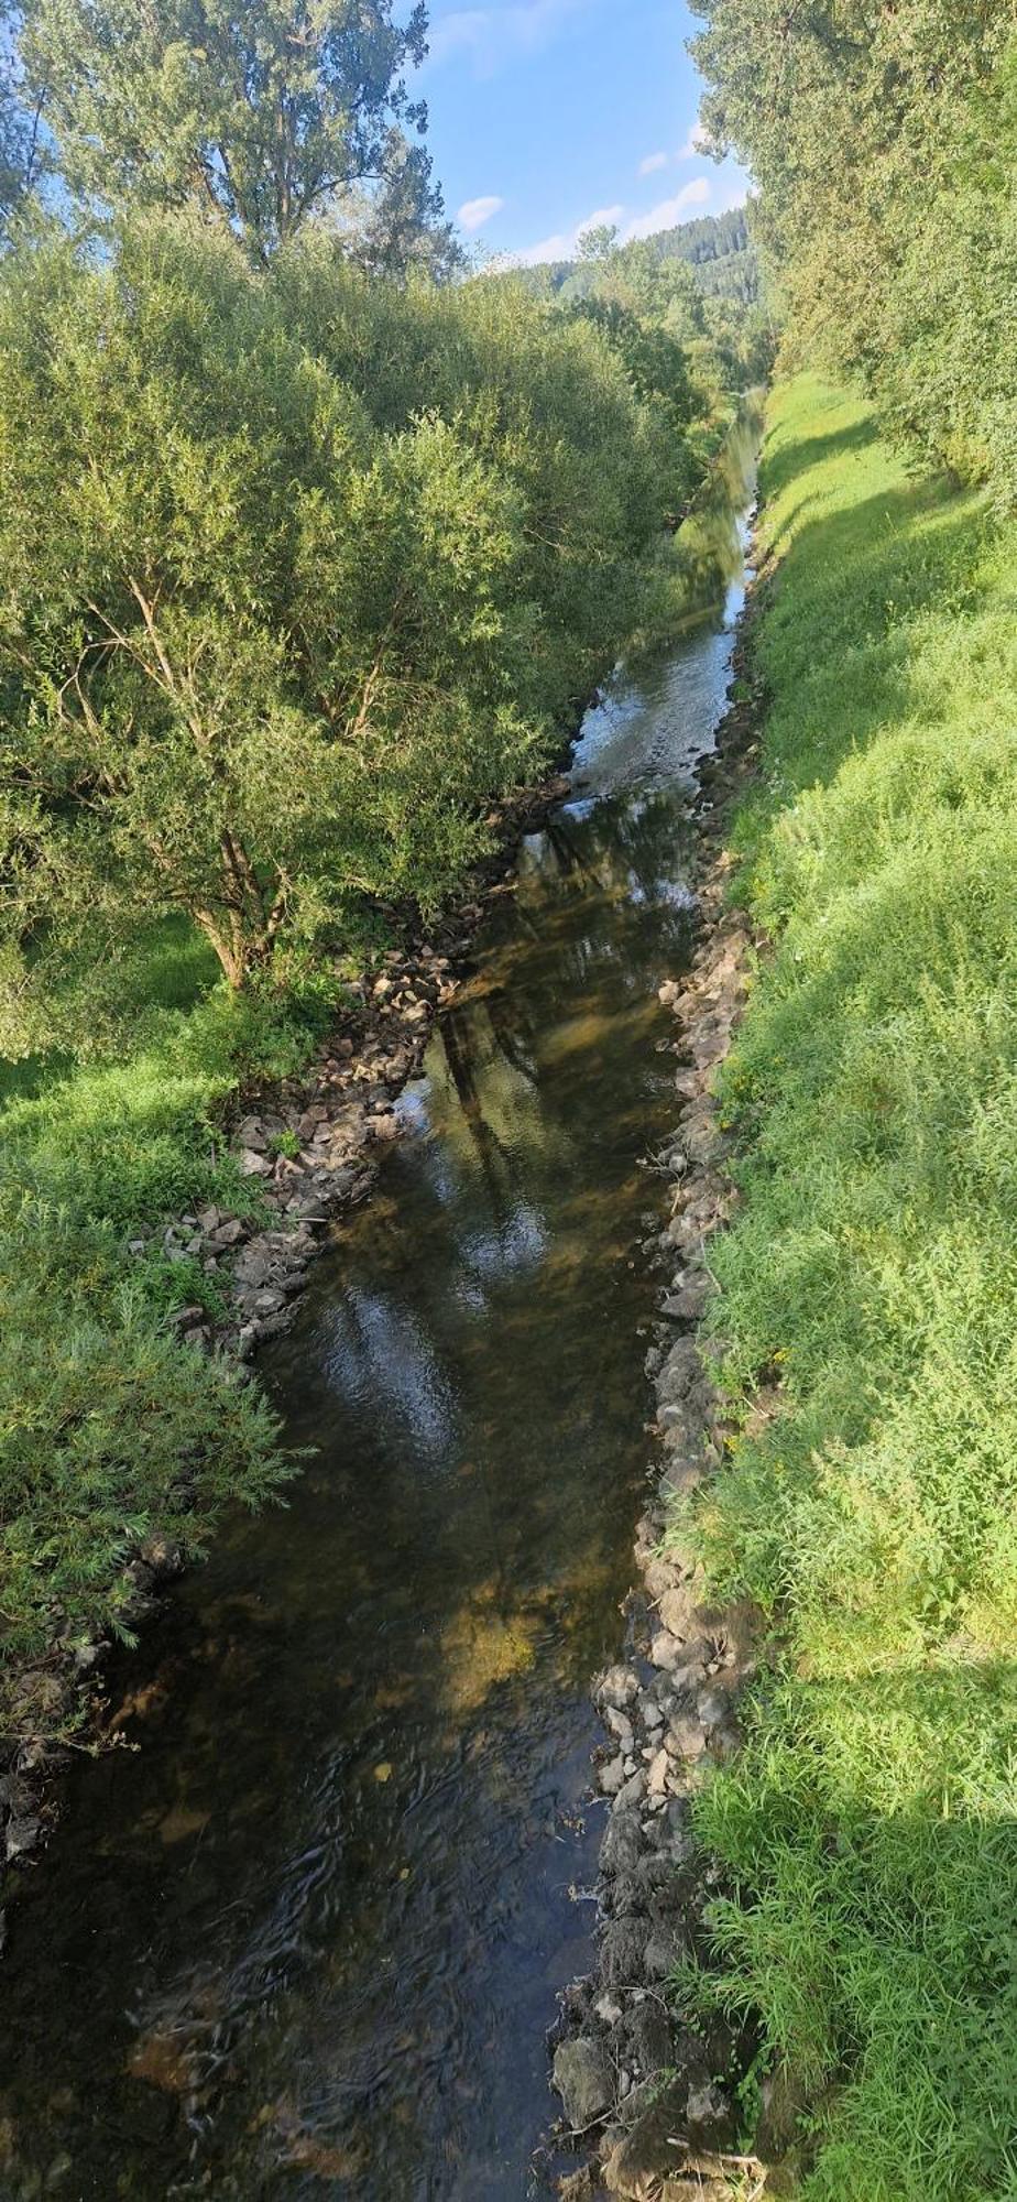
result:
[[[674,410],[511,288],[181,220],[11,260],[0,355],[7,1053],[141,920],[244,986],[434,907],[636,621]]]

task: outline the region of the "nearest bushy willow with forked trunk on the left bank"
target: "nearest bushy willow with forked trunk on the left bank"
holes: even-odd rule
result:
[[[436,416],[379,434],[229,238],[147,222],[95,266],[13,258],[4,1050],[163,914],[242,989],[363,898],[434,903],[539,731],[511,705],[520,555],[497,469]]]

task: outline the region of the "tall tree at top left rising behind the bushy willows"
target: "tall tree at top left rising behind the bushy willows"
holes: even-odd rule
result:
[[[425,24],[420,0],[405,26],[392,0],[26,0],[22,53],[79,198],[196,203],[266,260],[350,187],[436,220]]]

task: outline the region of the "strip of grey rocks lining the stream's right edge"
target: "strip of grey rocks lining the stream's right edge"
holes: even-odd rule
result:
[[[667,1275],[647,1356],[658,1460],[636,1533],[625,1660],[594,1685],[608,1733],[597,1766],[608,1799],[597,1971],[568,1988],[553,2050],[564,2127],[597,2151],[564,2180],[570,2202],[731,2202],[733,2182],[744,2178],[753,2195],[775,2191],[764,2165],[740,2147],[735,2090],[751,2039],[718,2021],[685,2024],[669,1993],[680,1962],[707,1953],[704,1911],[718,1894],[715,1863],[696,1845],[691,1799],[709,1764],[737,1751],[737,1693],[759,1656],[753,1612],[709,1603],[696,1557],[674,1539],[663,1550],[674,1495],[722,1471],[726,1438],[709,1374],[722,1343],[704,1334],[702,1319],[709,1238],[735,1198],[713,1072],[731,1046],[759,945],[724,907],[724,824],[755,757],[751,610],[735,647],[735,694],[746,700],[729,709],[715,757],[700,768],[698,945],[687,978],[660,989],[676,1017],[678,1112],[674,1141],[654,1158],[674,1182],[671,1218],[647,1249]],[[759,2147],[768,2151],[766,2132]]]

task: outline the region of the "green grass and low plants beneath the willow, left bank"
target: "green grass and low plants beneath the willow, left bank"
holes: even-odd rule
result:
[[[0,1726],[59,1640],[123,1632],[145,1537],[196,1555],[227,1500],[288,1473],[258,1389],[174,1337],[185,1301],[220,1312],[216,1279],[130,1240],[205,1202],[255,1213],[225,1116],[306,1061],[324,1002],[238,1002],[176,923],[117,982],[95,1059],[4,1066],[0,1086]]]

